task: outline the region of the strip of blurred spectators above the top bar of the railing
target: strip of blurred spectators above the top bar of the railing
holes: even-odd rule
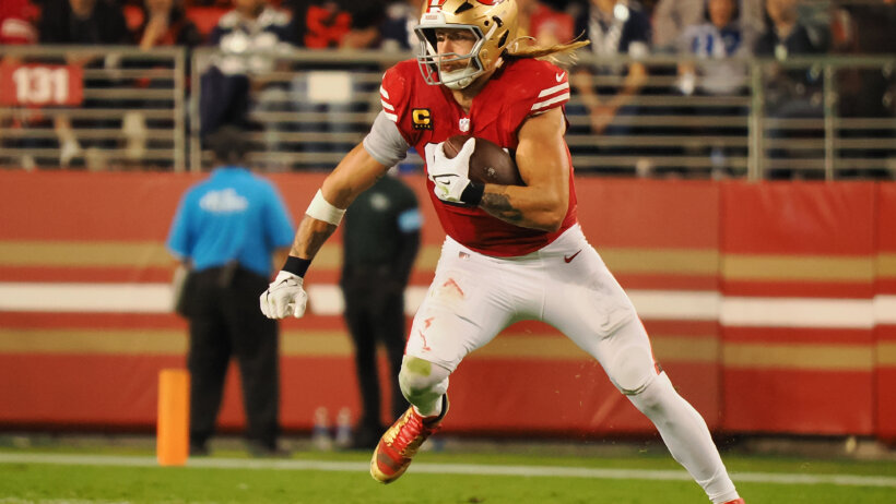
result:
[[[284,41],[304,48],[415,46],[409,28],[423,0],[4,0],[2,44],[214,44],[231,10],[285,16]],[[886,53],[894,1],[517,0],[520,25],[542,44],[587,36],[592,50],[694,52],[709,57],[790,50]],[[795,33],[791,33],[791,27]],[[859,28],[862,29],[859,29]],[[864,29],[868,28],[868,29]],[[778,40],[780,38],[780,40]],[[712,40],[721,44],[714,46]],[[638,47],[632,43],[641,43]]]

